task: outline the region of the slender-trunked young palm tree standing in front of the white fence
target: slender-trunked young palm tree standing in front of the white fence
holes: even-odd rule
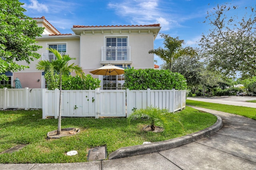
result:
[[[60,53],[56,49],[48,49],[51,51],[55,56],[55,61],[46,61],[42,60],[39,61],[36,65],[38,70],[44,70],[48,72],[50,76],[54,76],[54,74],[58,74],[60,76],[60,101],[59,101],[59,117],[58,117],[58,131],[57,134],[61,133],[61,92],[62,92],[62,75],[69,75],[70,72],[75,72],[81,78],[84,77],[84,71],[82,67],[75,65],[74,63],[68,65],[68,62],[71,60],[75,60],[76,58],[71,58],[69,55],[60,55]]]

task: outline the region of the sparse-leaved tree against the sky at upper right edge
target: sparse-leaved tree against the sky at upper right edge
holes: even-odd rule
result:
[[[212,70],[256,76],[256,10],[248,7],[244,16],[230,16],[236,10],[238,6],[223,4],[208,12],[204,22],[211,29],[200,46]]]

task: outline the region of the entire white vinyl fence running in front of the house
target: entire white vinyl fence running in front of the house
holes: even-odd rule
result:
[[[42,109],[58,118],[60,90],[0,89],[0,108]],[[148,106],[174,112],[186,105],[186,90],[62,90],[63,117],[127,117]]]

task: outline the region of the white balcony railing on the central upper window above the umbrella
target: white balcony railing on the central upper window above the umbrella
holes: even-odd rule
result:
[[[102,47],[102,61],[130,61],[130,47]]]

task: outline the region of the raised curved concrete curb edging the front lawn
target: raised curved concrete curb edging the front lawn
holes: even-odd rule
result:
[[[154,143],[149,143],[144,145],[136,145],[131,147],[123,147],[109,154],[108,159],[125,158],[130,156],[141,155],[141,154],[159,152],[162,150],[173,149],[176,147],[180,147],[182,145],[186,145],[188,143],[192,143],[204,137],[208,137],[209,135],[212,135],[222,127],[223,123],[222,123],[221,117],[219,117],[218,115],[215,115],[215,116],[217,117],[216,123],[214,123],[214,125],[206,129],[203,129],[201,131],[198,131],[183,137],[169,139],[166,141],[154,142]]]

